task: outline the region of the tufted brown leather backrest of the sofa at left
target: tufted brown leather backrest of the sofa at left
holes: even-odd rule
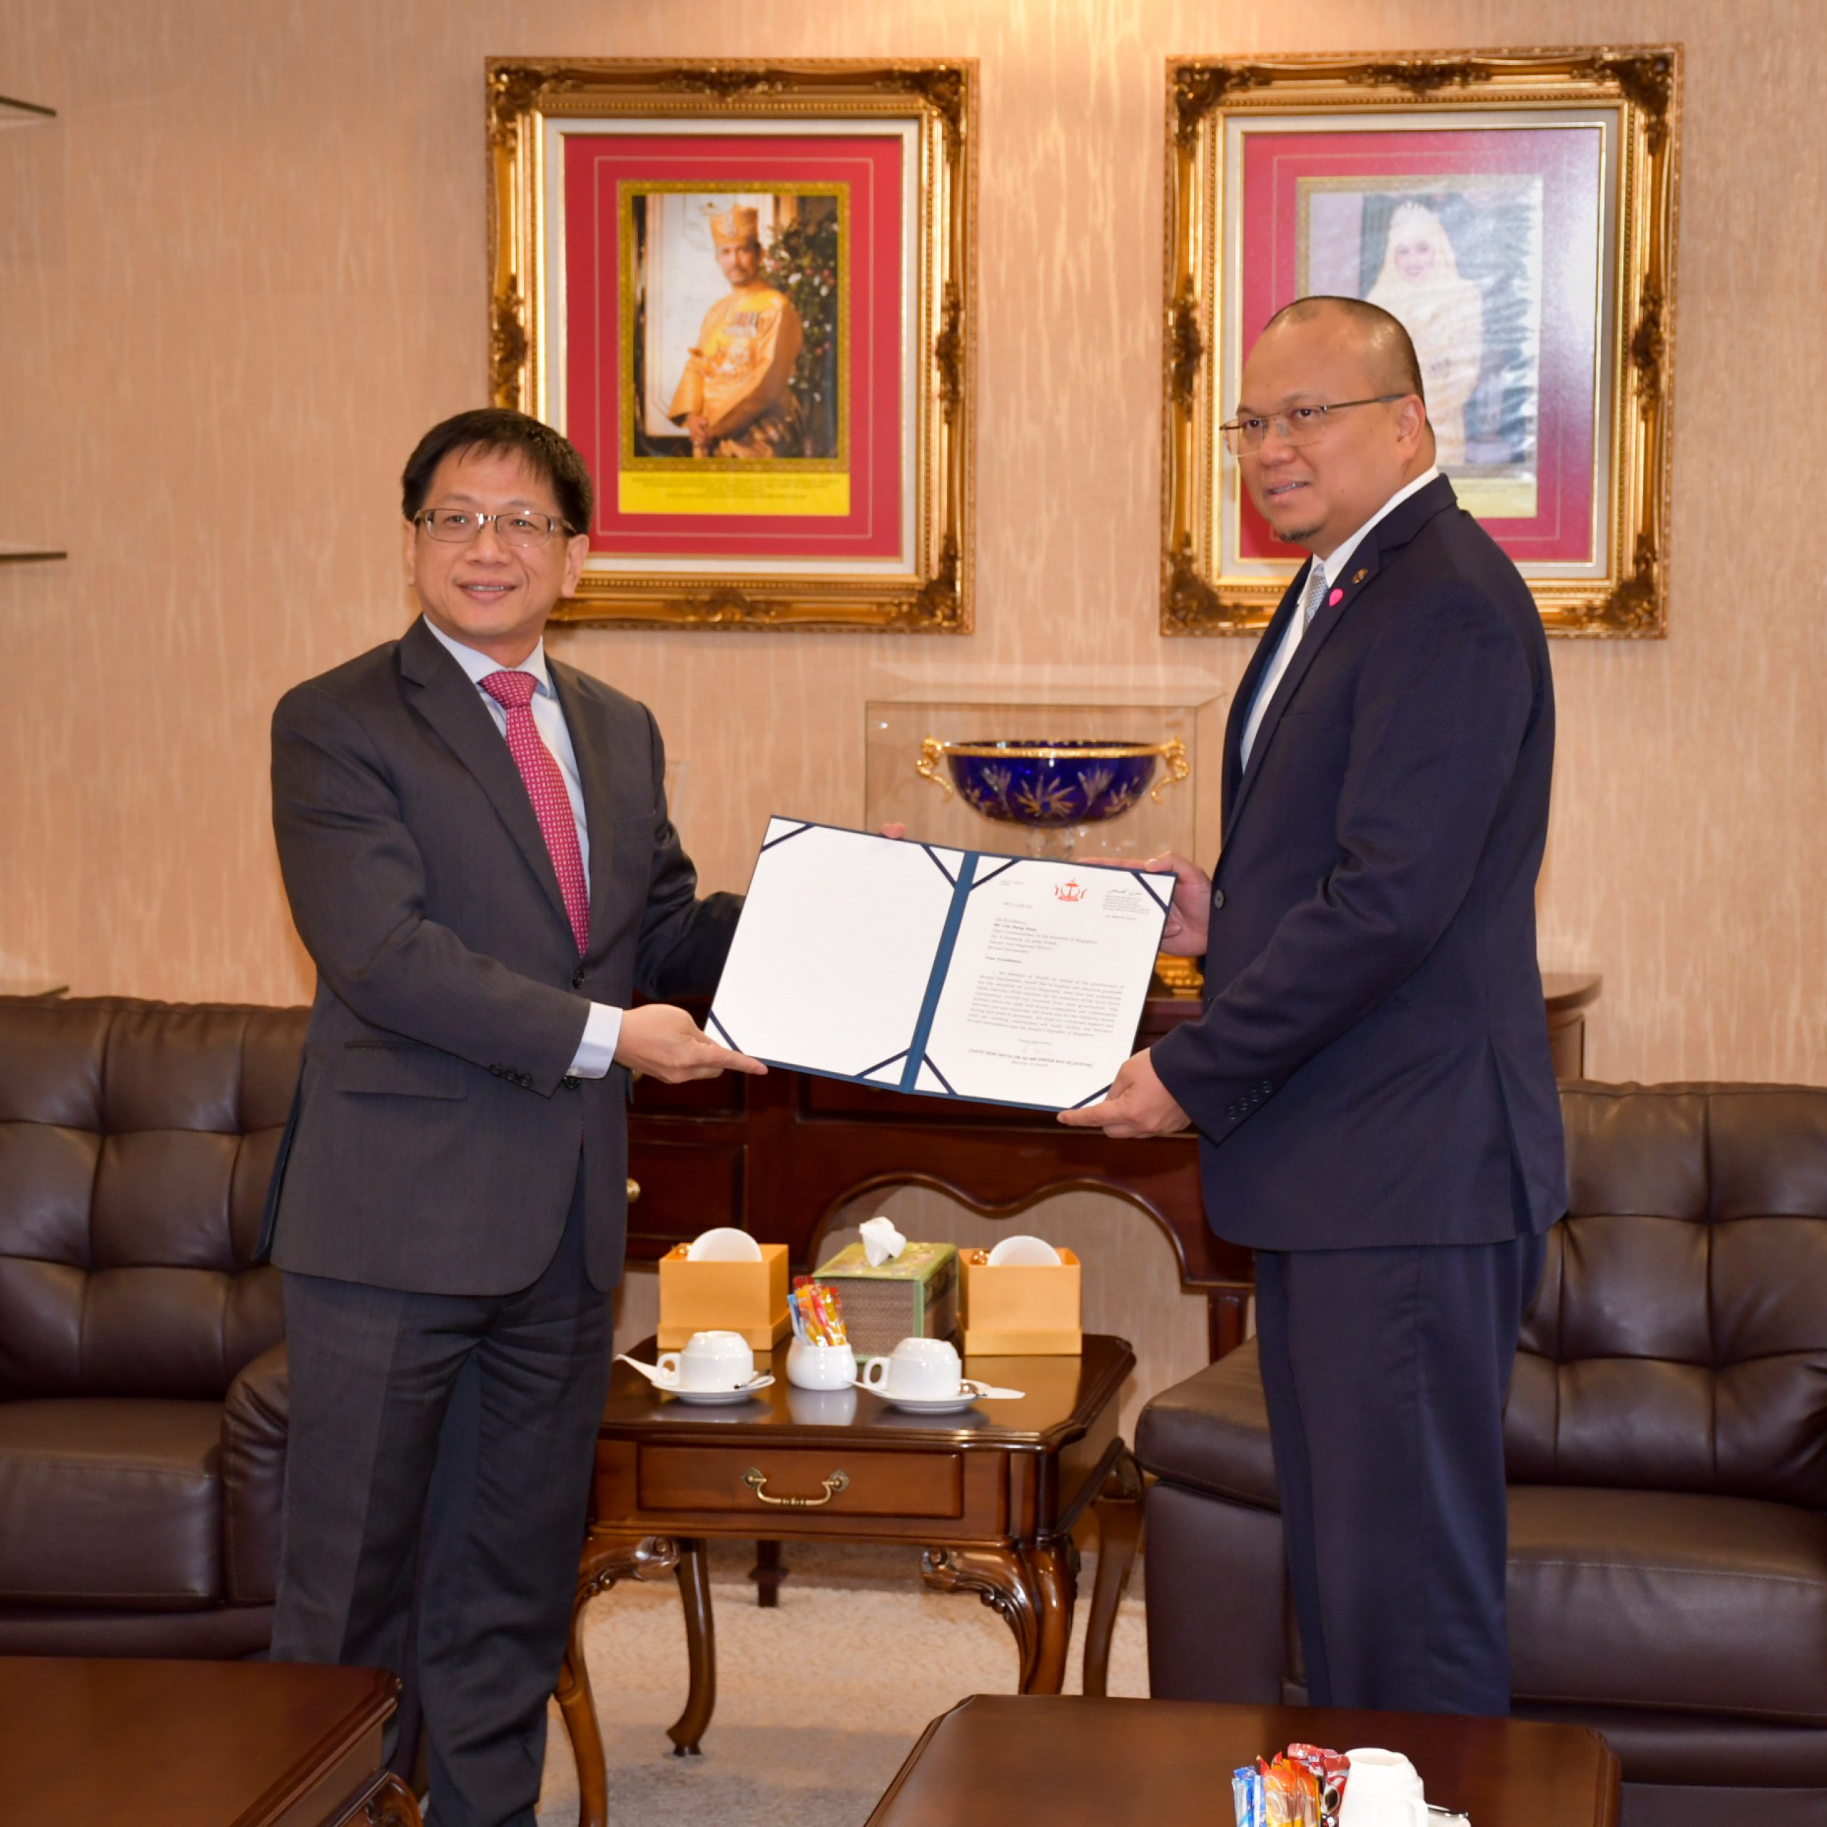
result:
[[[0,998],[0,1399],[219,1401],[281,1337],[252,1253],[303,1025]]]

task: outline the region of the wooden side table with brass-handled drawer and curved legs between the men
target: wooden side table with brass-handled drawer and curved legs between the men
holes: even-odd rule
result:
[[[647,1363],[654,1341],[630,1354]],[[1023,1694],[1058,1694],[1072,1632],[1072,1526],[1098,1522],[1098,1577],[1085,1692],[1102,1694],[1111,1626],[1135,1560],[1142,1482],[1116,1434],[1116,1392],[1135,1367],[1122,1339],[1085,1334],[1080,1357],[977,1357],[965,1374],[1021,1401],[919,1416],[861,1390],[786,1379],[734,1407],[691,1407],[616,1365],[596,1447],[590,1533],[557,1699],[577,1754],[579,1827],[603,1827],[607,1778],[577,1641],[583,1606],[621,1579],[676,1575],[685,1600],[691,1694],[669,1727],[698,1748],[716,1705],[705,1537],[917,1542],[939,1591],[972,1591],[1016,1639]]]

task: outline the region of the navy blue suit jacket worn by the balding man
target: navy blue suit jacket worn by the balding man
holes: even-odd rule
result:
[[[1566,1211],[1535,956],[1555,696],[1515,565],[1445,481],[1365,535],[1224,736],[1206,1001],[1153,1049],[1206,1213],[1259,1250],[1478,1244]],[[1337,594],[1337,592],[1328,592]]]

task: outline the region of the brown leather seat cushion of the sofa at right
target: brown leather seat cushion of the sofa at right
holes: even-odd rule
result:
[[[1827,1727],[1827,1516],[1511,1485],[1509,1644],[1518,1703]]]

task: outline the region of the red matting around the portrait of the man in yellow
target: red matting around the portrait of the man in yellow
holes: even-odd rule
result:
[[[886,135],[579,133],[565,141],[565,426],[596,481],[590,552],[616,557],[892,559],[901,552],[901,141]],[[850,513],[623,513],[621,190],[850,186]]]

